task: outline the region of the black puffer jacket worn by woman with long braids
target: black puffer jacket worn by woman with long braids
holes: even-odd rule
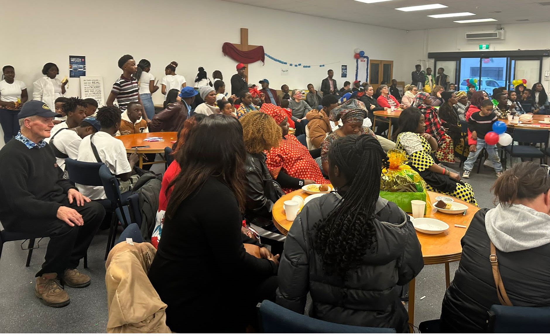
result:
[[[327,218],[339,202],[337,193],[312,199],[294,220],[279,265],[277,304],[304,313],[309,291],[312,317],[407,332],[409,318],[399,300],[397,285],[409,283],[424,265],[414,227],[395,203],[379,198],[375,210],[375,252],[367,251],[361,267],[349,271],[348,280],[328,277],[312,248],[312,228]]]

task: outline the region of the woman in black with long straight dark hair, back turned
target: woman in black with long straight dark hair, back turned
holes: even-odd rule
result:
[[[149,270],[173,332],[244,332],[257,302],[274,298],[279,256],[256,258],[243,246],[245,159],[243,128],[219,113],[202,120],[176,156],[181,171],[168,185]]]

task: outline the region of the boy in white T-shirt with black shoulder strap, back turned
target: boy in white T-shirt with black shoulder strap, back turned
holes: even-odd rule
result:
[[[124,144],[120,139],[113,137],[120,128],[120,109],[116,106],[103,106],[97,110],[96,118],[101,124],[101,129],[82,139],[78,148],[78,160],[105,163],[121,182],[121,192],[129,191],[131,183],[124,182],[133,181],[136,177],[132,175],[132,167],[139,158],[137,153],[132,153],[130,158],[127,158]],[[83,186],[77,183],[76,187],[90,199],[107,198],[102,186]]]

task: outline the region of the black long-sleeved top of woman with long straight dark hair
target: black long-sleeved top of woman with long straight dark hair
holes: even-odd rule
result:
[[[243,297],[251,290],[247,280],[277,274],[272,261],[246,253],[241,223],[235,195],[215,177],[164,221],[149,279],[168,305],[166,323],[173,332],[239,330]]]

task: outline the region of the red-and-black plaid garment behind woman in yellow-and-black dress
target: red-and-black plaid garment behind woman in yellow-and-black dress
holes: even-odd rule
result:
[[[418,109],[424,115],[426,133],[430,134],[437,141],[436,158],[442,162],[454,164],[453,139],[445,133],[443,122],[439,118],[437,109],[433,106],[420,105]]]

